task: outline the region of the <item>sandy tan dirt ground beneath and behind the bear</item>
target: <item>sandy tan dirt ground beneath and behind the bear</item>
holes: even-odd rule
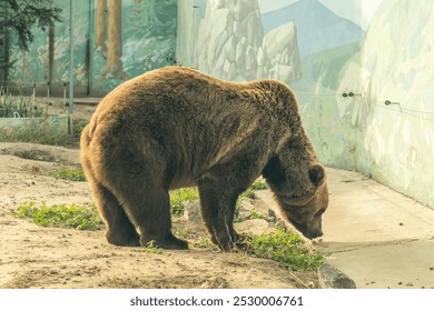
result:
[[[211,249],[149,253],[106,242],[103,231],[38,227],[14,217],[24,201],[89,205],[87,182],[47,175],[78,167],[79,151],[0,143],[0,288],[305,288],[317,273]],[[176,230],[207,237],[201,223],[175,218]]]

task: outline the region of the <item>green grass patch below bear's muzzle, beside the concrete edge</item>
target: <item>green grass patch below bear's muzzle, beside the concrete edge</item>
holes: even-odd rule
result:
[[[277,228],[276,233],[253,237],[249,253],[273,259],[294,271],[317,271],[324,262],[318,251],[307,249],[305,242],[295,232]]]

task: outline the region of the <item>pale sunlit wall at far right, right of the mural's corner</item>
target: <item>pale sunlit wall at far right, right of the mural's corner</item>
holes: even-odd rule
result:
[[[357,169],[434,208],[434,2],[384,0],[363,41]],[[385,106],[384,102],[400,104]],[[361,108],[349,111],[357,113]]]

